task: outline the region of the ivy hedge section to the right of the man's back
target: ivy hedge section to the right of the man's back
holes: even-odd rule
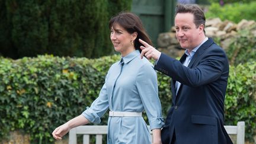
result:
[[[256,132],[256,62],[231,66],[225,100],[225,122],[245,121],[245,137],[253,142]]]

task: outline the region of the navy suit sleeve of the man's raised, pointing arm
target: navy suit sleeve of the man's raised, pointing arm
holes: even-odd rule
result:
[[[165,75],[171,76],[175,81],[190,87],[199,87],[216,81],[227,68],[228,60],[225,52],[220,47],[209,47],[199,57],[196,58],[197,66],[188,68],[172,57],[161,54],[155,69]],[[228,72],[228,71],[227,71]]]

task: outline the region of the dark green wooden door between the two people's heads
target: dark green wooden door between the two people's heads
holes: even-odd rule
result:
[[[173,25],[174,8],[174,0],[133,0],[132,12],[142,20],[155,47],[158,34],[169,31]]]

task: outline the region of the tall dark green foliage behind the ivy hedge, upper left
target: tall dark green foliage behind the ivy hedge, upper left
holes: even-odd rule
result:
[[[131,5],[132,0],[0,1],[0,53],[14,59],[108,55],[108,20]]]

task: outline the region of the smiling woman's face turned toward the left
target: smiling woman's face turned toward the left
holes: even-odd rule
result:
[[[110,39],[113,43],[114,49],[116,52],[120,52],[121,56],[126,56],[130,52],[135,50],[134,40],[137,37],[137,33],[130,34],[119,24],[114,24],[114,27],[111,27]]]

